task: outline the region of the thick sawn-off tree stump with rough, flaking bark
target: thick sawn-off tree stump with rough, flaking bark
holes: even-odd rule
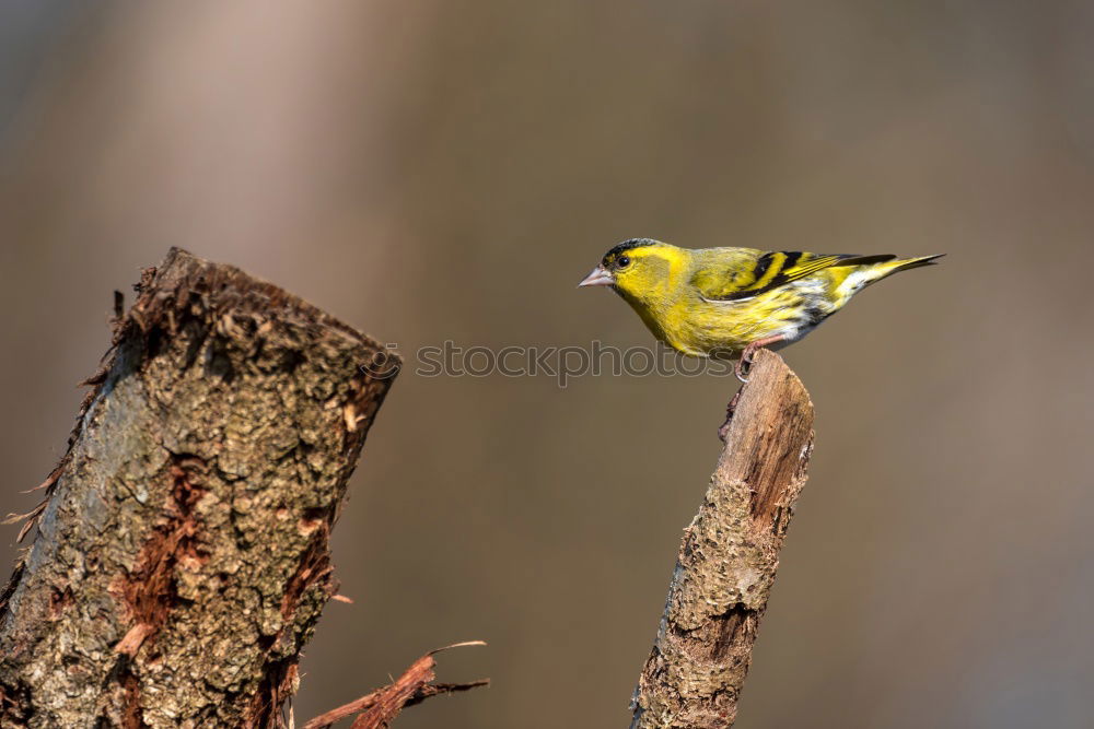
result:
[[[0,596],[0,725],[281,726],[397,361],[182,250],[137,290]]]

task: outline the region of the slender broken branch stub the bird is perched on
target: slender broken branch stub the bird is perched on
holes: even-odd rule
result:
[[[684,531],[631,729],[707,729],[736,719],[779,550],[805,484],[813,403],[767,350],[735,398],[725,448]]]

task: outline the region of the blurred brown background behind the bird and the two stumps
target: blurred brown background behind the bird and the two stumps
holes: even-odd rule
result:
[[[0,509],[171,245],[404,353],[647,343],[616,240],[946,251],[785,352],[817,405],[742,729],[1094,726],[1094,5],[0,5]],[[403,375],[296,716],[622,727],[735,388]],[[15,528],[3,532],[10,544]],[[7,548],[10,561],[14,548]]]

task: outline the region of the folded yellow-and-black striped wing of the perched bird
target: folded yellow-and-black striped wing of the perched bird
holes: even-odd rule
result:
[[[757,254],[737,257],[724,263],[711,261],[691,277],[691,284],[707,301],[736,302],[752,298],[834,266],[868,266],[896,258],[888,255],[819,256],[800,250],[766,254],[757,251]]]

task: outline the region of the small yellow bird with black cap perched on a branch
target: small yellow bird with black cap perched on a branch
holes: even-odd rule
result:
[[[697,357],[740,354],[736,374],[746,381],[757,349],[779,349],[802,339],[865,286],[897,271],[929,266],[942,255],[691,250],[632,238],[612,248],[578,285],[612,286],[654,337],[678,352]]]

